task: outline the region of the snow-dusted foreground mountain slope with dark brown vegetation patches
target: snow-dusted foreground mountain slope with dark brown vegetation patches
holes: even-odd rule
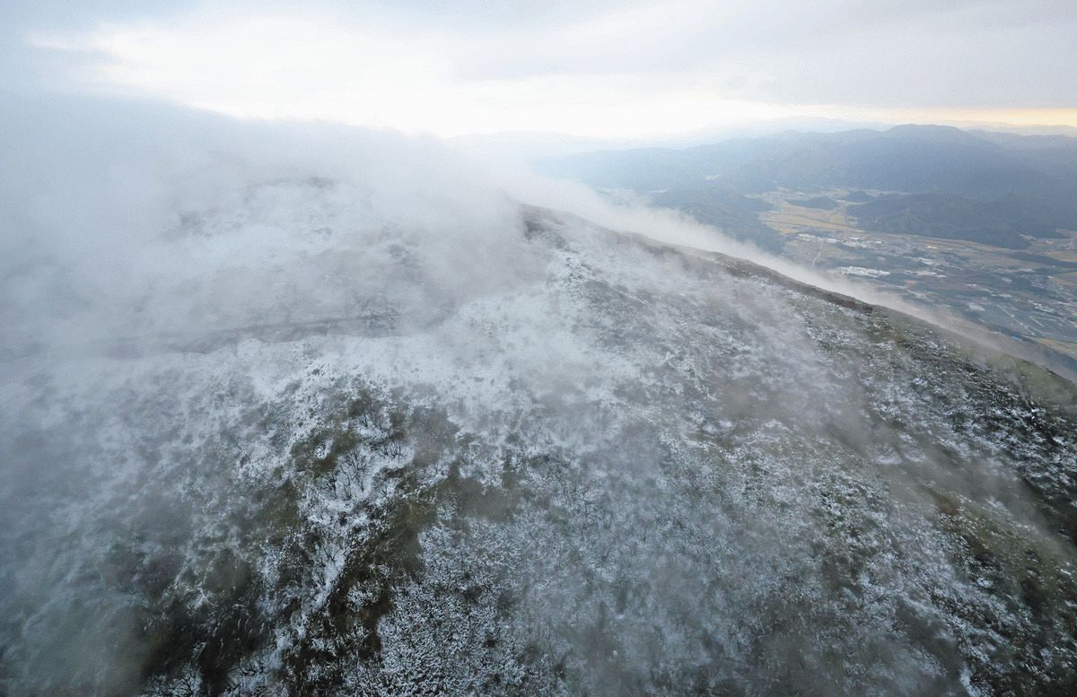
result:
[[[569,216],[244,191],[9,337],[0,692],[1072,694],[1072,384]]]

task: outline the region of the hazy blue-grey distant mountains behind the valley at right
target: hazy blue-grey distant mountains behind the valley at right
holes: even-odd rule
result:
[[[685,150],[586,153],[537,167],[600,188],[658,193],[657,203],[702,212],[702,222],[764,247],[780,245],[780,237],[746,225],[743,211],[729,205],[731,197],[779,188],[854,189],[847,200],[865,203],[849,212],[877,231],[1016,248],[1027,245],[1024,236],[1077,229],[1077,139],[1065,136],[949,126],[791,131]]]

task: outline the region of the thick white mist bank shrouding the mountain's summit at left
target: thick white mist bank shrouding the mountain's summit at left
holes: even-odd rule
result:
[[[514,204],[430,139],[58,98],[0,131],[4,360],[422,323],[527,274]]]

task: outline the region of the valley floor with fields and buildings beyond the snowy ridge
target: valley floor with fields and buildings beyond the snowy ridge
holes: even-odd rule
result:
[[[967,240],[879,232],[843,197],[779,189],[759,198],[763,223],[786,240],[785,256],[816,269],[866,276],[921,303],[943,307],[1077,360],[1077,232],[1029,238],[1022,250]],[[829,199],[833,208],[802,205]]]

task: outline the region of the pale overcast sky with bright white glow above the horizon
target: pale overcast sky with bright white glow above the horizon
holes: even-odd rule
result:
[[[39,0],[4,3],[0,27],[8,89],[438,136],[1077,126],[1074,0]]]

